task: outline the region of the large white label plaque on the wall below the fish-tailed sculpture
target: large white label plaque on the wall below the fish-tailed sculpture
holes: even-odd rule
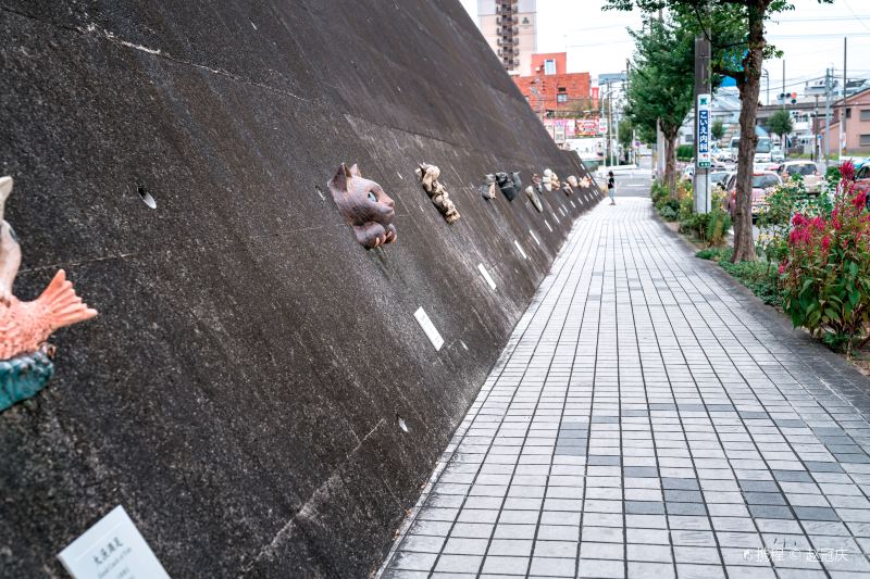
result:
[[[170,579],[121,505],[61,551],[58,558],[75,579]]]

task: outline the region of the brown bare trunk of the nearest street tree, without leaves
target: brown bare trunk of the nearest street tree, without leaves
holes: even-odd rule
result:
[[[744,80],[741,93],[741,146],[737,151],[737,194],[734,199],[734,263],[755,261],[753,241],[753,159],[758,143],[755,123],[758,95],[761,89],[761,62],[765,50],[765,11],[768,1],[758,0],[748,7],[749,51],[743,59]]]

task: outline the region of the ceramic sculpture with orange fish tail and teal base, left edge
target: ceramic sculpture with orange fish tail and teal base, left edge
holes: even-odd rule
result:
[[[66,274],[54,278],[33,302],[12,294],[21,265],[21,246],[3,218],[12,178],[0,177],[0,411],[34,397],[54,374],[54,350],[46,343],[51,333],[97,315],[75,294]]]

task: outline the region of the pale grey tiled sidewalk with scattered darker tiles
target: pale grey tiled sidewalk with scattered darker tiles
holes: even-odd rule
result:
[[[605,202],[382,577],[870,577],[869,383],[648,199]]]

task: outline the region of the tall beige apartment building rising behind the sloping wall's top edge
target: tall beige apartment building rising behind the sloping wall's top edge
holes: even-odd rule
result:
[[[536,0],[477,0],[477,25],[505,70],[527,71],[537,50]]]

